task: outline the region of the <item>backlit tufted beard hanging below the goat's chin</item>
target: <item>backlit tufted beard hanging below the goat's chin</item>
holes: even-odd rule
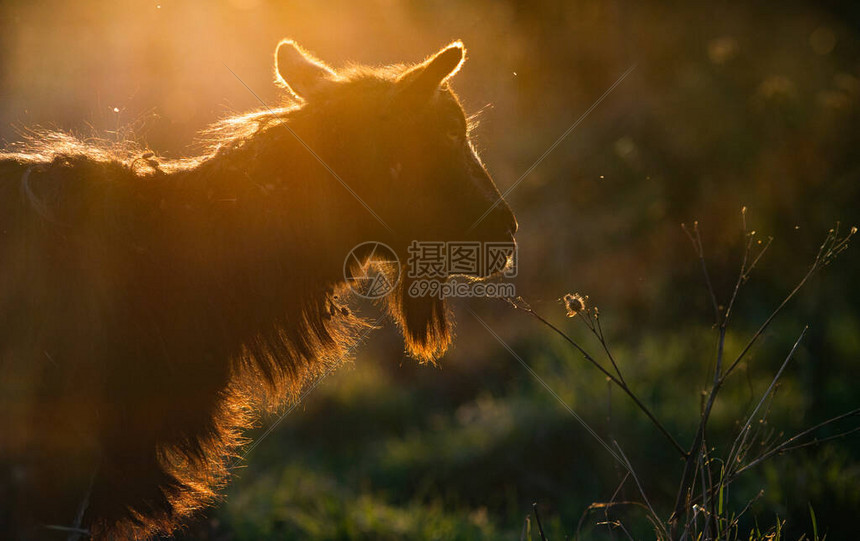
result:
[[[414,278],[404,276],[387,297],[388,313],[400,327],[406,351],[420,362],[441,357],[453,338],[448,303],[438,296],[412,296]]]

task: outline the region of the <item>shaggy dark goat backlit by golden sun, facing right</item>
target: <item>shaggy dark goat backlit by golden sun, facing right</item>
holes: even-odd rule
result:
[[[202,156],[47,131],[0,153],[0,536],[57,538],[80,509],[94,538],[146,538],[213,500],[253,412],[369,327],[342,306],[350,249],[460,239],[499,197],[446,83],[463,55],[335,72],[285,41],[287,104],[216,124]],[[484,222],[516,229],[504,203]],[[388,312],[435,359],[447,309],[408,286]]]

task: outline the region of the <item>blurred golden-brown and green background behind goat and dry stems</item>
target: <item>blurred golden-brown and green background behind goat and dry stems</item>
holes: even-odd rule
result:
[[[187,155],[198,130],[260,106],[228,67],[277,103],[272,53],[284,37],[334,67],[417,62],[462,39],[468,61],[453,86],[468,112],[481,111],[476,144],[503,191],[636,66],[510,194],[516,286],[597,356],[599,344],[559,303],[567,292],[589,295],[625,378],[685,446],[716,334],[681,223],[699,223],[720,303],[743,254],[741,208],[757,238],[774,239],[741,291],[729,356],[803,276],[827,231],[860,225],[853,2],[3,2],[0,138],[38,125]],[[858,250],[807,284],[728,381],[709,434],[715,453],[807,324],[767,430],[787,437],[860,405]],[[465,302],[454,306],[455,346],[436,367],[406,358],[390,326],[375,332],[253,449],[224,501],[184,535],[519,539],[538,502],[550,539],[573,538],[622,472]],[[497,300],[467,303],[619,442],[667,517],[681,463],[641,412],[528,315]],[[260,432],[275,421],[262,420]],[[637,498],[627,484],[616,499]],[[853,537],[860,438],[750,471],[728,504],[740,512],[752,500],[746,528],[785,520],[796,539],[811,531],[811,505],[828,539]],[[641,511],[609,518],[649,536]],[[605,519],[588,515],[583,538],[613,535],[597,525]]]

